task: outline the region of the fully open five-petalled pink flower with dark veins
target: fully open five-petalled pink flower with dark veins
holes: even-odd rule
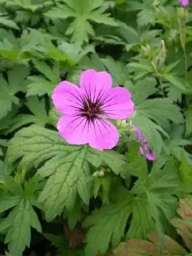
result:
[[[131,116],[131,93],[125,88],[112,88],[110,74],[93,69],[82,72],[79,83],[80,88],[63,81],[52,94],[54,106],[64,114],[57,124],[60,135],[70,144],[88,143],[99,150],[115,147],[119,134],[106,118]]]

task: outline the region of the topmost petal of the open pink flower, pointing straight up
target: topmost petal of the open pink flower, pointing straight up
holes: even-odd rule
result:
[[[93,69],[83,71],[80,77],[80,86],[88,99],[93,102],[104,92],[108,91],[113,84],[108,72],[96,72]]]

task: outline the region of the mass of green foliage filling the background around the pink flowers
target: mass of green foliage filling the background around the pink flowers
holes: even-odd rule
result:
[[[192,252],[190,7],[176,0],[0,6],[0,252]],[[125,127],[104,152],[60,138],[52,90],[64,79],[78,84],[88,68],[107,70],[114,86],[132,92],[129,122],[156,152],[154,163]]]

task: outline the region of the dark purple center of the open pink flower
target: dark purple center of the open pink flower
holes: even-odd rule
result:
[[[83,109],[81,109],[81,115],[86,116],[86,118],[93,120],[99,118],[99,115],[102,115],[103,111],[101,110],[102,104],[100,102],[91,102],[86,99],[83,102]]]

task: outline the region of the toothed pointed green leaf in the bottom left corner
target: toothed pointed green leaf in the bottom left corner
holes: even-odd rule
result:
[[[38,217],[29,200],[21,199],[15,209],[0,224],[0,232],[7,230],[4,242],[8,243],[8,250],[11,254],[21,256],[26,246],[29,247],[30,226],[41,231]]]

